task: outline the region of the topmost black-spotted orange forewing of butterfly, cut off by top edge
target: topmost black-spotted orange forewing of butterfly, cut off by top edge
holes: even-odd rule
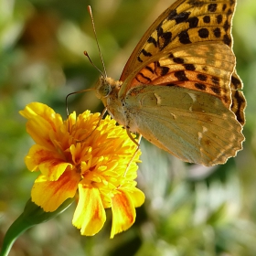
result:
[[[234,0],[179,0],[148,28],[127,61],[120,80],[157,52],[201,41],[232,45],[230,25]]]

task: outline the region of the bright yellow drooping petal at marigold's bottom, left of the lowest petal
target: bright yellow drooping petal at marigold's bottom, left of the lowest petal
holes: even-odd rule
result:
[[[93,236],[106,221],[106,213],[98,188],[79,185],[80,199],[72,223],[80,229],[81,235]]]

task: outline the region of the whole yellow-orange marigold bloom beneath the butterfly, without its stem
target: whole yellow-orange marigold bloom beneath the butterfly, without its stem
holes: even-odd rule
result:
[[[32,201],[48,212],[78,195],[72,223],[82,235],[101,230],[105,208],[112,208],[111,238],[129,229],[144,193],[134,181],[140,151],[126,170],[136,150],[126,131],[110,116],[97,127],[100,113],[89,111],[78,118],[73,112],[63,122],[58,113],[38,102],[20,113],[36,143],[25,158],[27,168],[41,173],[31,191]]]

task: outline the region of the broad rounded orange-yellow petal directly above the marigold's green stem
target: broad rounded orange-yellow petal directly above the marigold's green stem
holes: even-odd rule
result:
[[[46,176],[38,176],[32,187],[32,201],[45,211],[55,211],[69,197],[75,197],[80,175],[72,171],[59,177],[58,181],[48,181]]]

